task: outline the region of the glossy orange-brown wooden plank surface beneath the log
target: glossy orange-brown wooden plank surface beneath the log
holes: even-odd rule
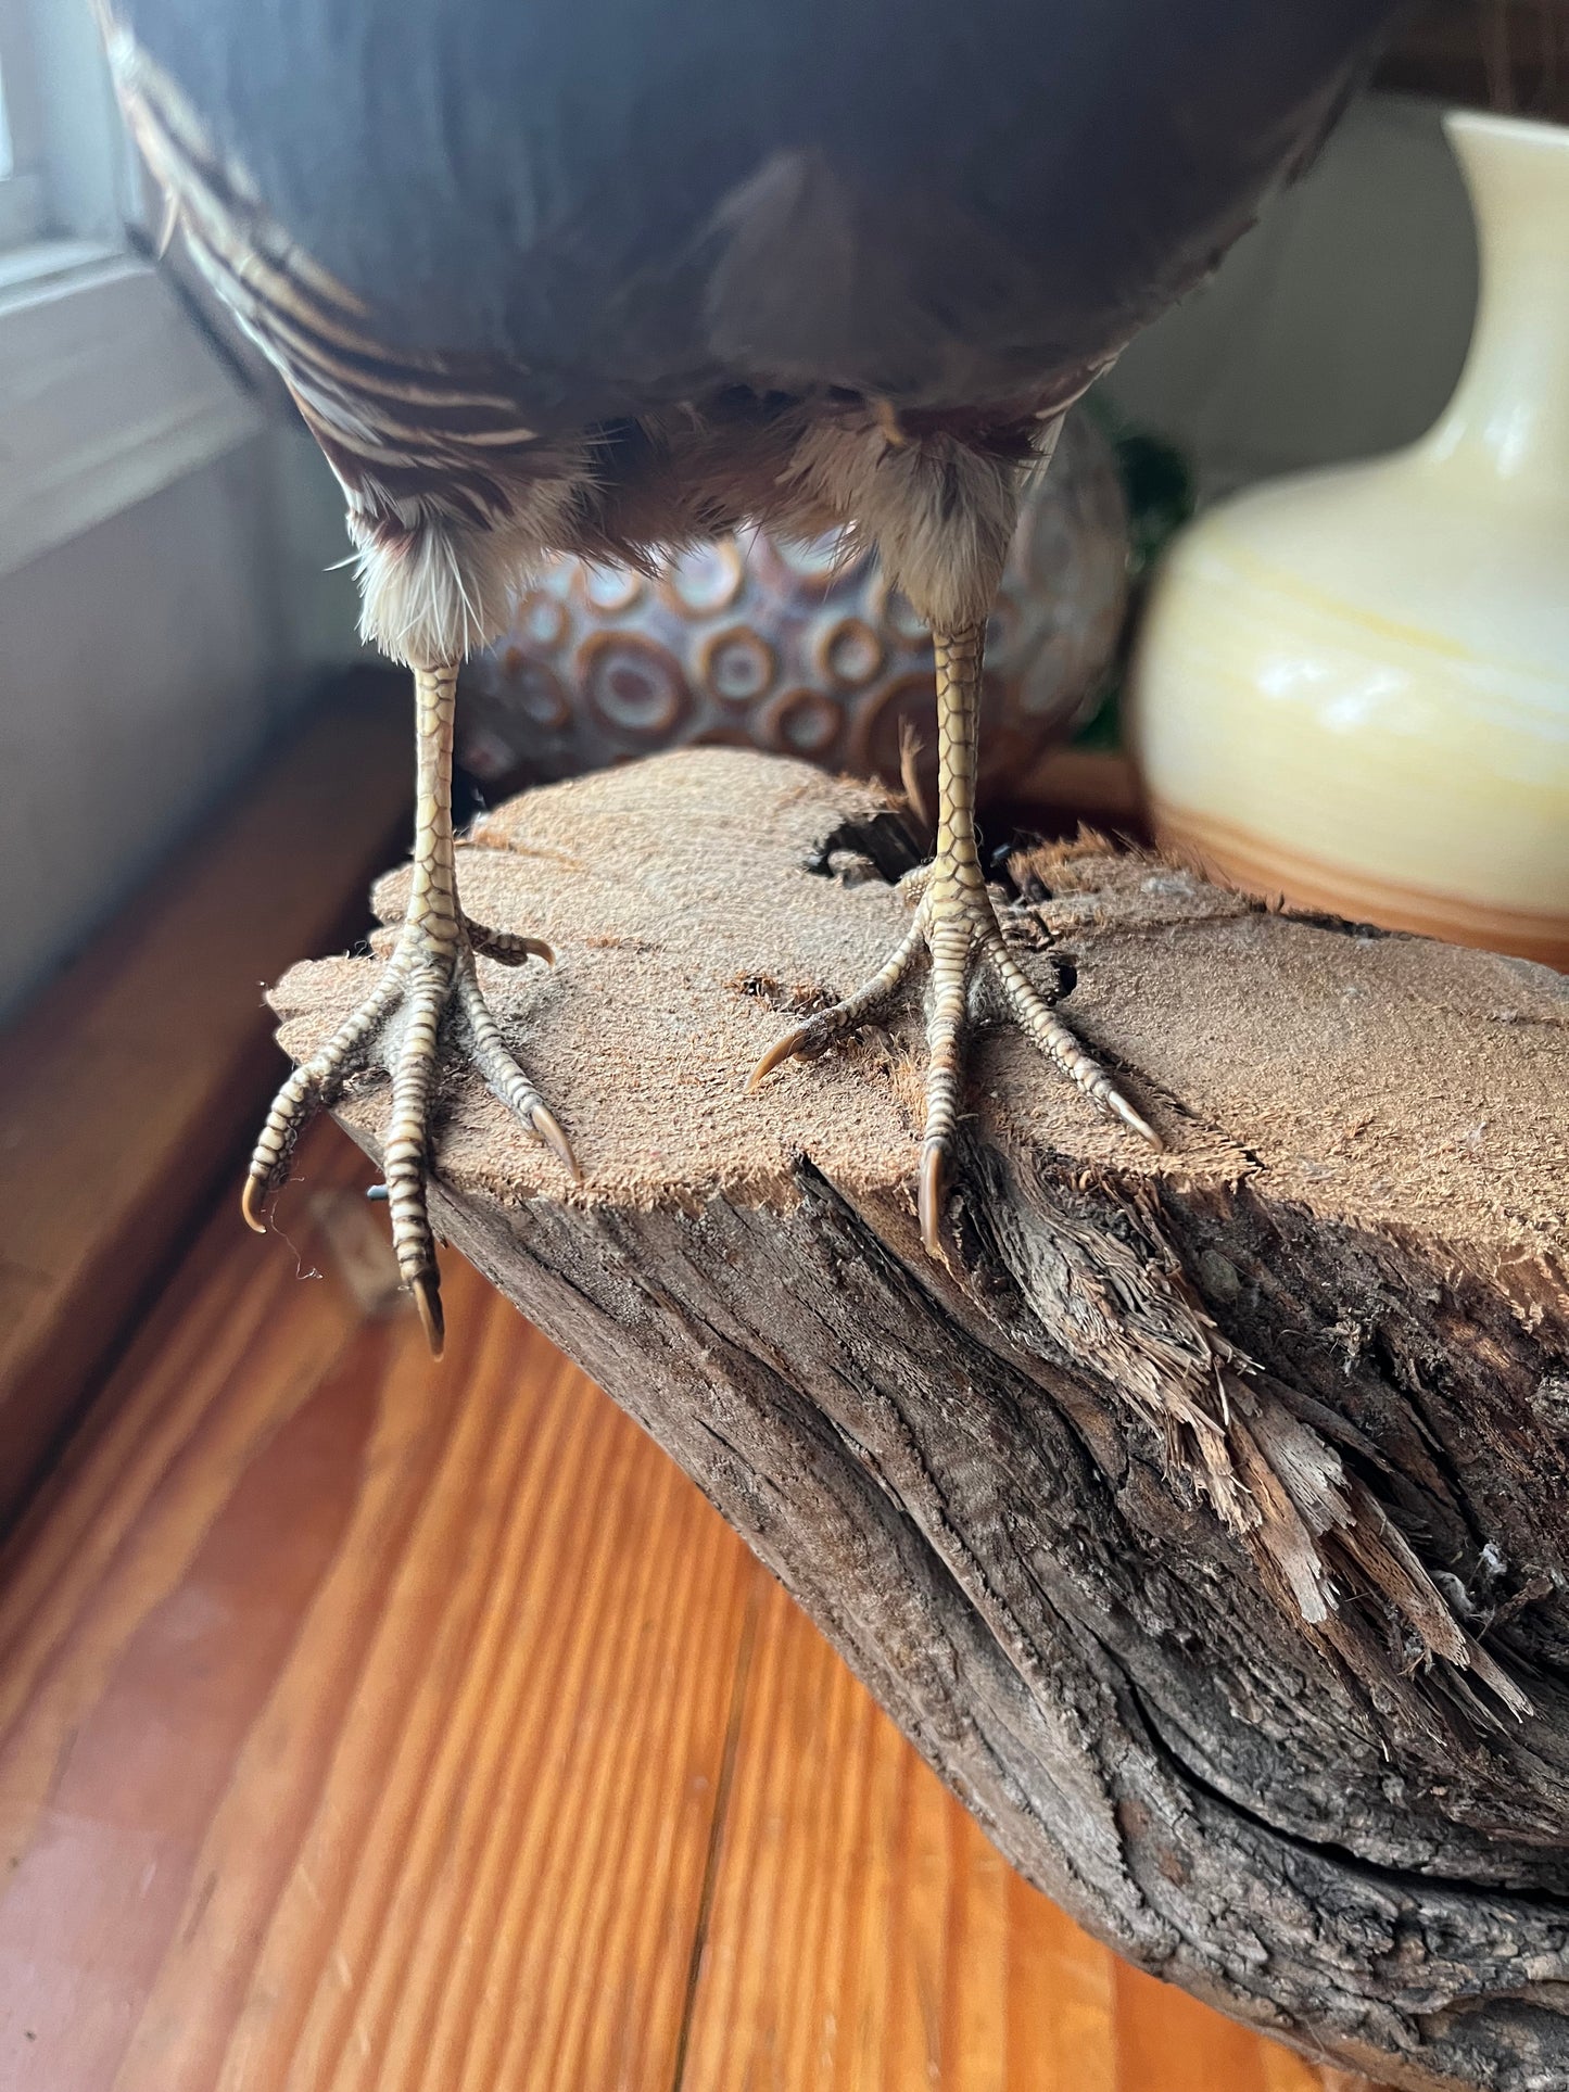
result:
[[[431,1366],[335,1130],[295,1174],[0,1561],[0,2092],[1318,2092],[1027,1889],[456,1257]]]

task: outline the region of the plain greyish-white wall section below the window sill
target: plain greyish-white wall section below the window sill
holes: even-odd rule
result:
[[[132,891],[297,697],[270,441],[0,577],[0,1013]]]

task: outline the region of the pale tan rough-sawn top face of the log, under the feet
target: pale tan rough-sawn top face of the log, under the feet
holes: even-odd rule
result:
[[[908,1184],[918,992],[883,1029],[745,1094],[766,1046],[872,973],[908,923],[904,897],[843,856],[837,877],[808,868],[847,818],[883,805],[805,764],[692,749],[485,816],[460,854],[464,906],[546,937],[559,962],[517,973],[481,960],[481,981],[586,1182],[573,1190],[456,1054],[439,1176],[506,1203],[701,1205],[789,1197],[805,1155],[849,1192]],[[1052,897],[1036,914],[1077,969],[1063,1017],[1125,1071],[1169,1153],[1100,1117],[1013,1027],[990,1023],[969,1092],[983,1136],[1130,1182],[1253,1176],[1272,1199],[1475,1247],[1494,1268],[1561,1270],[1569,979],[1293,920],[1138,856],[1054,851],[1040,874]],[[383,904],[404,889],[391,874]],[[1050,983],[1046,958],[1021,958]],[[312,1052],[377,973],[374,958],[295,967],[272,998],[282,1046]],[[385,1109],[387,1084],[372,1077],[343,1117],[374,1136]]]

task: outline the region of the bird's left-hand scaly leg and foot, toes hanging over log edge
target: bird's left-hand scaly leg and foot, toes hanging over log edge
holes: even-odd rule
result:
[[[441,1356],[441,1280],[427,1211],[431,1092],[444,1017],[458,1021],[469,1059],[492,1092],[554,1149],[577,1176],[567,1136],[508,1052],[475,973],[475,954],[502,967],[552,960],[548,943],[483,929],[458,906],[452,841],[452,720],[458,669],[416,669],[414,709],[418,782],[414,808],[414,883],[387,969],[370,996],[310,1061],[293,1071],[268,1113],[245,1180],[245,1218],[266,1232],[262,1203],[282,1176],[308,1121],[333,1105],[345,1082],[374,1063],[391,1075],[391,1113],[383,1136],[383,1174],[393,1251],[414,1295],[431,1351]]]

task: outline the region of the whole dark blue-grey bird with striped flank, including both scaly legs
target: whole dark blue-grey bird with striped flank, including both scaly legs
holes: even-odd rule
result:
[[[473,952],[508,939],[462,916],[435,808],[456,663],[546,552],[646,565],[747,519],[870,538],[939,669],[939,839],[910,937],[764,1069],[931,958],[931,1247],[981,964],[1048,1056],[1155,1138],[985,893],[985,615],[1021,467],[1305,165],[1395,0],[100,4],[199,264],[343,483],[364,630],[418,686],[416,906],[385,996],[274,1107],[251,1201],[301,1113],[402,1025],[387,1180],[431,1320],[444,1008],[561,1142],[475,985]]]

